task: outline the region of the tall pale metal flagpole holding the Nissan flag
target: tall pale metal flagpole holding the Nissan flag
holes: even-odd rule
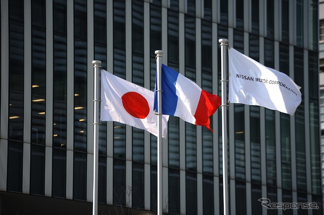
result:
[[[228,215],[228,177],[227,177],[227,82],[228,82],[228,39],[219,39],[221,44],[221,87],[222,87],[222,143],[223,143],[223,201],[224,215]]]

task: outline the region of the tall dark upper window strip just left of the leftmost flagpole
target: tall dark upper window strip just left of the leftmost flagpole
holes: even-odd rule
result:
[[[74,1],[74,150],[87,152],[87,1]]]

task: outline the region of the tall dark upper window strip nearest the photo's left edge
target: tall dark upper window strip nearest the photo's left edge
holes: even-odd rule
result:
[[[23,141],[24,123],[24,4],[9,1],[9,127],[10,140]]]

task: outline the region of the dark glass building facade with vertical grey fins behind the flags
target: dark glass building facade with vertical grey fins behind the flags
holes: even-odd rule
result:
[[[221,95],[220,38],[302,87],[294,116],[229,105],[230,214],[323,214],[318,8],[315,0],[1,0],[0,214],[92,210],[93,60],[153,90],[154,51],[163,50],[164,64]],[[211,126],[215,133],[170,117],[167,214],[223,213],[221,108]],[[157,138],[118,122],[102,122],[99,133],[98,212],[154,214]],[[318,209],[267,209],[261,198]]]

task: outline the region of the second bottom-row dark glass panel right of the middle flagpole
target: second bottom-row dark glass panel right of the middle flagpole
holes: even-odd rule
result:
[[[186,172],[186,214],[197,214],[197,175]]]

